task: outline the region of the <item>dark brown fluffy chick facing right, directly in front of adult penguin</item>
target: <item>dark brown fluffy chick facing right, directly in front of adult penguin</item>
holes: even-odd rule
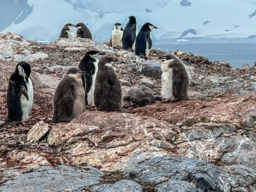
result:
[[[121,112],[121,83],[114,71],[113,57],[102,57],[98,63],[98,71],[95,81],[94,103],[95,108],[100,111]]]

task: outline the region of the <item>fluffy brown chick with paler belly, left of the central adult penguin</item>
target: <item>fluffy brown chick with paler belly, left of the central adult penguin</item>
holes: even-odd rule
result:
[[[69,122],[84,112],[82,71],[78,67],[66,70],[53,96],[53,122]]]

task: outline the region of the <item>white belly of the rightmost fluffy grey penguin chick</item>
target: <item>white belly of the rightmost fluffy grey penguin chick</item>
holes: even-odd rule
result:
[[[162,90],[161,98],[162,100],[174,101],[175,97],[173,96],[173,69],[164,71],[161,76]]]

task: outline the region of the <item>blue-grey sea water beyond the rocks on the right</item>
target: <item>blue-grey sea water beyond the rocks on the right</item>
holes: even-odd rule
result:
[[[254,66],[256,61],[255,38],[153,40],[152,48],[164,52],[191,52],[194,55],[203,55],[209,61],[226,61],[236,68],[245,63]]]

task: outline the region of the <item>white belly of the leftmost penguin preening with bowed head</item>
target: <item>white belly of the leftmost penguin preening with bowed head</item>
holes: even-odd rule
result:
[[[28,93],[28,100],[24,95],[21,95],[20,101],[21,101],[21,110],[22,110],[22,118],[21,122],[25,122],[28,120],[28,117],[31,113],[31,109],[33,106],[33,100],[34,100],[34,94],[33,94],[33,85],[31,82],[31,79],[28,78],[27,85],[27,93]]]

